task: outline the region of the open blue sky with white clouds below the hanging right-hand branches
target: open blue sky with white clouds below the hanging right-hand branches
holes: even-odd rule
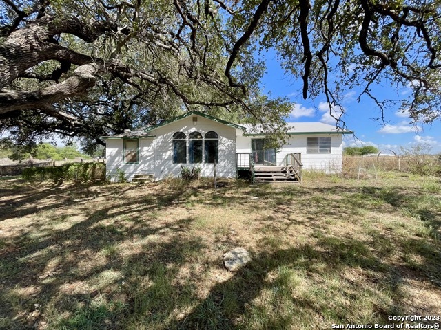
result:
[[[325,96],[315,100],[303,100],[301,95],[302,81],[294,80],[294,77],[286,75],[278,64],[276,53],[268,52],[265,55],[267,73],[261,80],[265,92],[271,91],[271,96],[287,96],[294,102],[294,108],[288,118],[289,122],[325,122],[335,125],[336,121],[329,115],[329,107]],[[371,86],[376,96],[388,96],[396,91],[384,85]],[[401,95],[407,94],[410,89],[402,89]],[[384,113],[387,124],[383,126],[373,118],[380,117],[380,109],[363,96],[358,102],[356,100],[360,91],[347,89],[344,103],[345,114],[342,120],[346,122],[347,128],[355,132],[353,135],[346,135],[345,146],[364,146],[379,144],[380,151],[396,153],[400,146],[405,148],[418,143],[425,143],[431,146],[431,153],[441,153],[441,122],[433,122],[431,125],[418,124],[417,127],[409,124],[406,113],[402,113],[398,107]]]

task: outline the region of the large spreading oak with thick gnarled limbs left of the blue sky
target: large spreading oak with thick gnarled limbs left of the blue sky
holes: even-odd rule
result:
[[[258,104],[263,65],[231,50],[214,3],[1,0],[0,129],[19,143],[84,137],[90,153],[100,135],[192,109],[280,130],[287,101]]]

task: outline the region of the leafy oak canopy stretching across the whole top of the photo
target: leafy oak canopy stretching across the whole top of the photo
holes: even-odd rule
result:
[[[302,81],[302,97],[325,95],[336,120],[353,86],[378,118],[396,102],[412,122],[440,118],[439,0],[0,5],[0,129],[18,142],[60,133],[93,146],[190,109],[278,132],[290,107],[260,91],[258,54],[269,48]],[[380,82],[411,93],[380,99],[371,91]]]

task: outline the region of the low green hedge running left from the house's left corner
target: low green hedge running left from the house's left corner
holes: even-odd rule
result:
[[[62,166],[28,167],[21,177],[27,181],[104,181],[105,164],[103,163],[72,163]]]

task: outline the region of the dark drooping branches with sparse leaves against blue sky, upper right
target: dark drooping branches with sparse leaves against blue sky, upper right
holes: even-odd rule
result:
[[[413,123],[440,118],[439,0],[242,3],[232,19],[237,29],[253,34],[261,50],[276,47],[283,67],[302,80],[303,98],[324,94],[336,120],[345,112],[348,87],[360,87],[359,101],[367,96],[376,102],[383,122],[384,110],[395,104]],[[256,17],[258,24],[249,23]],[[380,99],[371,91],[377,83],[390,84],[397,94],[408,87],[411,94]]]

